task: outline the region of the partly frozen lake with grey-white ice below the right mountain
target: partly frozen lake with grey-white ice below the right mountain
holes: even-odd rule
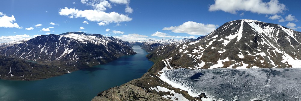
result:
[[[193,94],[224,101],[301,101],[301,69],[199,69],[164,70],[172,82]]]

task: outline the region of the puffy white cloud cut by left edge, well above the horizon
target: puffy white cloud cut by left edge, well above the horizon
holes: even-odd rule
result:
[[[2,17],[0,17],[0,27],[4,27],[4,28],[19,28],[22,29],[22,27],[19,27],[19,25],[17,23],[15,23],[16,19],[13,15],[11,15],[11,17],[6,16],[6,14],[0,12],[0,16],[2,15]]]

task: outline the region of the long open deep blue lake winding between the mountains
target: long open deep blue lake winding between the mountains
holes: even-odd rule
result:
[[[140,78],[154,64],[133,47],[128,55],[104,65],[36,81],[0,80],[0,101],[89,101],[99,92]]]

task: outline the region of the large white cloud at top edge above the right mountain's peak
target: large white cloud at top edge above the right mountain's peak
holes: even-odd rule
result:
[[[258,14],[276,14],[286,10],[285,5],[278,0],[215,0],[215,4],[210,5],[209,11],[222,10],[236,14],[237,11],[250,11]]]

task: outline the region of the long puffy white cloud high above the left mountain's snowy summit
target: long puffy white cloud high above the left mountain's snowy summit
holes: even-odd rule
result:
[[[107,25],[113,22],[128,22],[132,20],[132,18],[128,17],[128,15],[123,15],[116,12],[106,13],[98,10],[78,10],[74,8],[69,9],[67,7],[60,9],[59,14],[69,16],[69,18],[85,18],[89,21],[99,22],[98,25]]]

